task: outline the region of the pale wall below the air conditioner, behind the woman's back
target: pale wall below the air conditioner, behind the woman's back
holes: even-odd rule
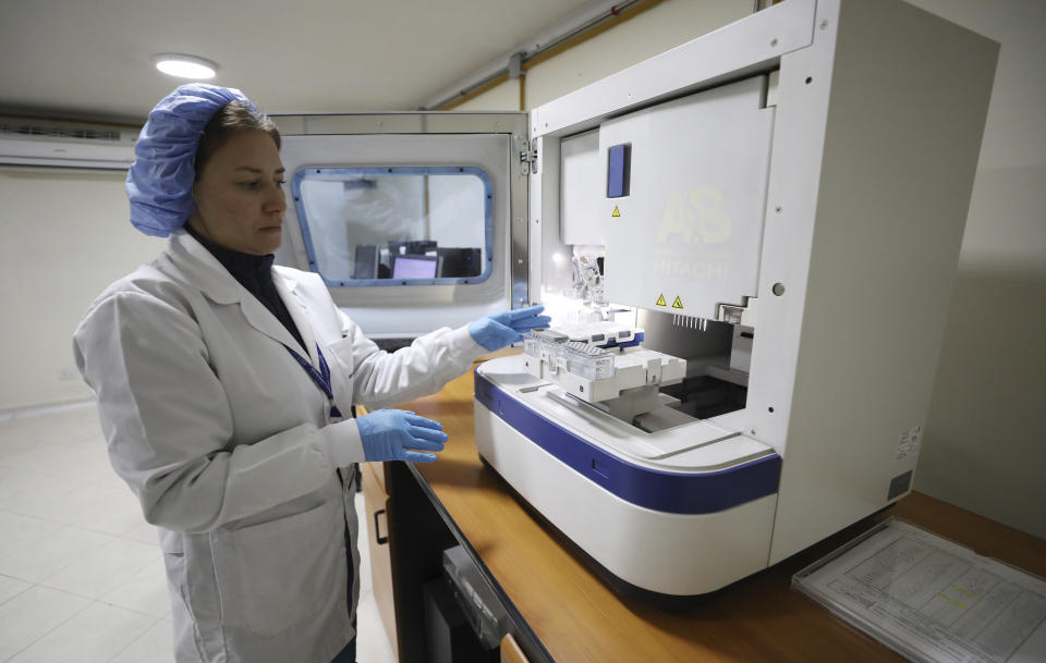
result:
[[[163,246],[127,221],[124,176],[0,169],[0,412],[90,398],[73,330],[106,285]]]

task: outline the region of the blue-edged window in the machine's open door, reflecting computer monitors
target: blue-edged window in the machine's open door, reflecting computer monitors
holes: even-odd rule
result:
[[[490,275],[490,177],[471,167],[309,168],[291,192],[329,285],[476,283]]]

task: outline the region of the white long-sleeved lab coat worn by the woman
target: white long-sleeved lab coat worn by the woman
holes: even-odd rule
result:
[[[462,328],[384,353],[318,275],[273,270],[345,415],[433,393],[486,352]],[[354,635],[355,488],[323,444],[337,435],[356,461],[363,447],[354,421],[330,425],[326,395],[281,343],[305,356],[184,231],[109,286],[74,335],[112,466],[159,528],[179,662],[329,663]]]

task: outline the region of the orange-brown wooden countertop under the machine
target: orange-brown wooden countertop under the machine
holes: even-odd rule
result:
[[[792,574],[873,520],[735,582],[696,609],[667,613],[608,589],[572,543],[532,517],[481,463],[472,373],[403,407],[442,422],[450,440],[440,459],[416,468],[558,663],[904,660],[790,589]],[[874,519],[889,515],[1046,576],[1042,539],[920,493]]]

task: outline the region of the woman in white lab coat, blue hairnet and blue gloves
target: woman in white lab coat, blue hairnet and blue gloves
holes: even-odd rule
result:
[[[540,307],[381,352],[317,274],[272,266],[280,136],[239,90],[160,101],[127,174],[132,223],[169,235],[74,335],[113,468],[158,526],[180,662],[355,660],[351,466],[436,459],[438,422],[380,410],[548,323]],[[353,404],[377,409],[343,418]]]

